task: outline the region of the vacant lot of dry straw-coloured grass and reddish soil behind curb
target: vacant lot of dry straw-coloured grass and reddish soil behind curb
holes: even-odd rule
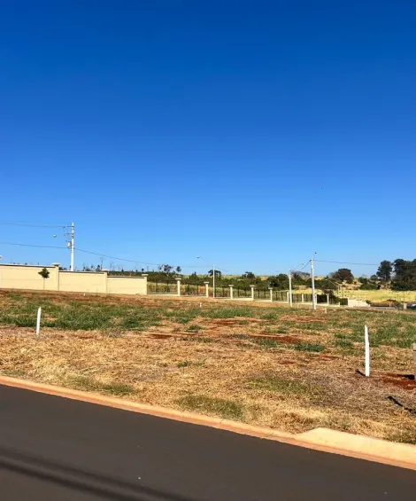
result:
[[[289,432],[416,443],[412,342],[412,313],[0,292],[3,374]]]

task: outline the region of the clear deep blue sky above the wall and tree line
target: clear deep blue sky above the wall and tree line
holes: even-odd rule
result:
[[[0,219],[185,271],[414,258],[415,25],[411,0],[3,2]]]

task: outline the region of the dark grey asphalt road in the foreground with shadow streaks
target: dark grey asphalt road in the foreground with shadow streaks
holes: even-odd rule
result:
[[[1,501],[416,499],[416,472],[0,386]]]

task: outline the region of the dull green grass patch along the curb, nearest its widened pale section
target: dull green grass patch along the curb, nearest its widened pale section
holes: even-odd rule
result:
[[[176,401],[185,411],[214,414],[223,419],[241,420],[244,417],[242,403],[204,395],[186,395]]]

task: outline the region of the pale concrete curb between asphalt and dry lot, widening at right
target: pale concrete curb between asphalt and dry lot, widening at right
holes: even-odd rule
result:
[[[366,459],[390,466],[416,470],[416,446],[388,442],[363,435],[339,432],[328,428],[315,428],[303,434],[288,434],[267,427],[246,425],[228,419],[210,418],[194,412],[175,411],[158,405],[135,403],[110,396],[97,395],[65,387],[57,387],[27,380],[0,376],[0,384],[37,391],[47,395],[61,396],[81,402],[96,403],[124,411],[139,412],[158,418],[173,419],[204,427],[214,427],[233,433],[247,434],[267,440],[288,443],[307,449],[340,454],[351,458]]]

